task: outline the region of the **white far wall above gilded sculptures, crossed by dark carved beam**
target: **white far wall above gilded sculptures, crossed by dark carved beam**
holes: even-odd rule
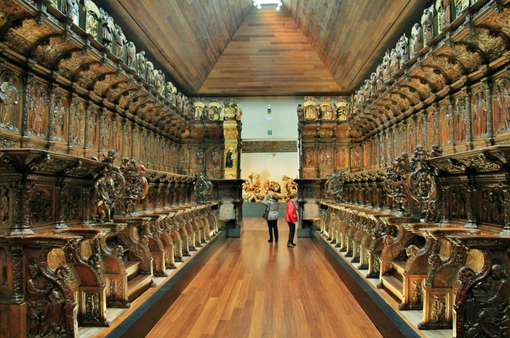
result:
[[[236,100],[243,109],[243,140],[295,140],[297,143],[296,107],[303,103],[302,97],[237,97]],[[270,114],[268,104],[271,105]],[[268,130],[272,130],[272,135],[268,135]],[[260,174],[262,184],[269,180],[282,185],[283,175],[295,178],[298,170],[298,152],[241,154],[241,179],[248,179],[253,172]]]

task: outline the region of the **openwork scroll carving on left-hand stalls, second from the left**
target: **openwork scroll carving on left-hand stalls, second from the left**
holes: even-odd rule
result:
[[[136,215],[136,203],[145,198],[149,191],[149,184],[145,178],[145,167],[135,160],[124,157],[120,172],[125,180],[125,193],[121,198],[123,216]]]

